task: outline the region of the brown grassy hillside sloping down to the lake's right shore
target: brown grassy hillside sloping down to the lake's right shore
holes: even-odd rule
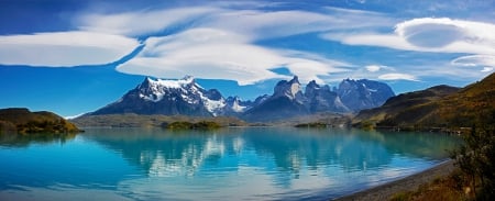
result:
[[[495,74],[462,89],[437,86],[399,94],[384,105],[361,111],[358,125],[398,126],[415,130],[470,127],[495,115]]]

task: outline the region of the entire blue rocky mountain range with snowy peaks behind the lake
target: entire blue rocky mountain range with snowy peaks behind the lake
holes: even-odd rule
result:
[[[386,83],[373,80],[343,80],[330,89],[310,81],[305,88],[298,77],[282,80],[273,94],[254,101],[224,98],[217,89],[204,89],[186,76],[178,80],[146,77],[118,101],[85,115],[163,114],[189,116],[238,116],[250,122],[275,121],[319,112],[348,113],[382,105],[395,93]]]

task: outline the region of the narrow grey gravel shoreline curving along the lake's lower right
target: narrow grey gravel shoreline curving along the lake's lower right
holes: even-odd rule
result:
[[[418,174],[384,183],[371,189],[332,199],[334,201],[389,200],[392,196],[402,191],[416,190],[419,186],[449,175],[455,168],[454,160],[449,159]]]

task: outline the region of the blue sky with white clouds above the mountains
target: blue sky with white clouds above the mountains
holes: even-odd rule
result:
[[[495,0],[1,0],[0,108],[95,111],[146,76],[244,100],[297,75],[463,87],[495,68]]]

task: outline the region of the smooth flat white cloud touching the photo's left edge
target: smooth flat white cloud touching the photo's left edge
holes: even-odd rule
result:
[[[0,64],[45,67],[102,65],[139,46],[133,38],[95,32],[0,36]]]

